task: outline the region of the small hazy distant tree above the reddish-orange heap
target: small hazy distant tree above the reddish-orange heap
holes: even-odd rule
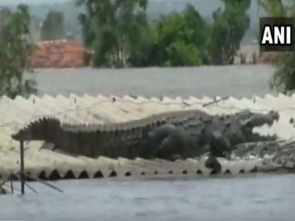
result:
[[[63,39],[65,36],[63,13],[48,12],[41,27],[41,39],[44,41]]]

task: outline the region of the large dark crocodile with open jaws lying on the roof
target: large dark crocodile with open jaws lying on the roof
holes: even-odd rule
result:
[[[209,152],[207,165],[218,167],[216,157],[229,157],[232,147],[244,142],[275,140],[253,133],[279,119],[277,112],[210,115],[200,110],[155,114],[123,123],[69,124],[43,116],[12,135],[15,140],[44,140],[56,149],[89,157],[116,159],[187,159]]]

